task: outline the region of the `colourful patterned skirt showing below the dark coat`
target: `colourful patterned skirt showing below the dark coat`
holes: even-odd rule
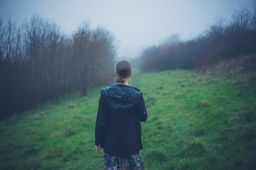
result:
[[[119,157],[104,153],[104,170],[145,170],[140,152],[132,156]]]

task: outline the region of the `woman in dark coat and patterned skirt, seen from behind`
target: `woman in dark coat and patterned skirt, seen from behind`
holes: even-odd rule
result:
[[[144,170],[141,124],[147,120],[143,93],[128,85],[131,63],[116,64],[116,85],[100,91],[95,148],[104,150],[105,170]]]

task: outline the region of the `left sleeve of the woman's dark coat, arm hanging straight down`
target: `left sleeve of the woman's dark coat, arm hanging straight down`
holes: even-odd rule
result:
[[[98,113],[96,118],[96,125],[95,125],[95,145],[99,146],[99,144],[102,143],[102,138],[104,136],[104,129],[105,125],[107,123],[107,108],[106,103],[103,99],[103,96],[100,95],[99,98],[99,107],[98,107]]]

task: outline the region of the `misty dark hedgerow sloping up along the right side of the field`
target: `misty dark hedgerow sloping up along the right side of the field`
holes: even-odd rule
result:
[[[256,53],[256,1],[253,10],[234,11],[232,20],[219,19],[192,40],[172,35],[158,46],[144,49],[140,56],[143,72],[168,69],[200,69],[219,61]],[[256,64],[256,63],[255,63]]]

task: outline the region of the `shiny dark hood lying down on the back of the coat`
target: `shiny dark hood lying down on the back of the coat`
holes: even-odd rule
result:
[[[139,89],[124,84],[105,87],[100,91],[100,94],[112,109],[133,107],[143,96]]]

